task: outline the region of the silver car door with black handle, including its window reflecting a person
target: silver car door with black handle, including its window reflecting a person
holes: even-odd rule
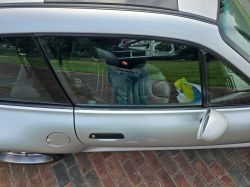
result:
[[[248,94],[243,94],[243,101],[235,108],[228,107],[228,103],[239,100],[237,94],[228,92],[228,75],[223,69],[231,67],[226,63],[216,69],[216,63],[224,62],[213,52],[211,55],[182,41],[133,36],[54,34],[40,36],[39,41],[75,104],[76,134],[88,147],[197,147],[248,142],[249,108],[239,109],[248,103]],[[210,68],[211,64],[215,65]],[[236,72],[234,69],[230,71]],[[209,76],[214,74],[218,76]],[[247,80],[241,80],[248,85]],[[218,89],[222,90],[220,96]],[[222,103],[225,98],[227,103]],[[215,113],[216,120],[225,119],[226,123],[208,120],[204,125],[207,116],[214,118]],[[199,130],[201,127],[204,130]],[[210,139],[197,137],[198,131],[202,134],[209,129]],[[214,132],[219,136],[217,133],[215,138]]]

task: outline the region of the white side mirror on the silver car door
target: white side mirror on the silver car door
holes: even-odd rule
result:
[[[220,138],[228,129],[229,122],[220,112],[209,109],[201,121],[197,140],[212,142]]]

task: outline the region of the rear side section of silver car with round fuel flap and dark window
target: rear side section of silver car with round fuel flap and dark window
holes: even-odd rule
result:
[[[29,35],[0,37],[0,150],[70,153],[73,107]]]

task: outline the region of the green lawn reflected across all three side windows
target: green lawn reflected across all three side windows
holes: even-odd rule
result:
[[[32,66],[45,67],[43,59],[39,56],[26,56],[26,59]],[[21,64],[25,63],[26,60],[25,58],[21,60],[18,56],[0,56],[0,61]],[[87,58],[74,60],[63,59],[63,67],[59,65],[58,60],[51,60],[51,64],[55,70],[107,74],[107,64],[103,59],[98,59],[97,62]],[[146,69],[152,80],[175,82],[185,77],[188,82],[200,84],[198,61],[147,60]],[[209,62],[207,69],[209,85],[225,87],[220,61]]]

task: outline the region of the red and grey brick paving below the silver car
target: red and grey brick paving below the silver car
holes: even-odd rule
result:
[[[0,163],[0,187],[249,187],[250,148],[67,154],[56,163]]]

